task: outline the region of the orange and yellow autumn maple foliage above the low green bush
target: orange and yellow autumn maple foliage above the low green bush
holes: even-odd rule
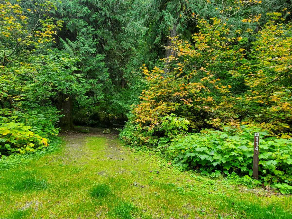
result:
[[[289,138],[292,29],[281,23],[280,13],[269,16],[259,32],[247,30],[256,39],[248,51],[248,39],[236,36],[242,30],[217,18],[212,25],[199,20],[192,43],[173,38],[170,72],[142,67],[148,89],[130,121],[143,136],[138,139],[165,136],[161,126],[172,113],[189,121],[189,132],[226,126],[240,132],[244,125]]]

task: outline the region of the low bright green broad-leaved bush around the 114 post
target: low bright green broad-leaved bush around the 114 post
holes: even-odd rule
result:
[[[200,171],[221,171],[228,175],[253,174],[253,132],[244,131],[231,135],[229,132],[202,130],[175,139],[166,148],[166,154],[177,165]],[[267,135],[262,132],[261,136]],[[259,180],[292,192],[292,139],[269,137],[260,140]],[[248,179],[248,178],[246,178]]]

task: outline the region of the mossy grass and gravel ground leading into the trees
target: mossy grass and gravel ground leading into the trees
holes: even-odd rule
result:
[[[67,133],[0,171],[0,218],[292,218],[292,197],[181,172],[115,135]]]

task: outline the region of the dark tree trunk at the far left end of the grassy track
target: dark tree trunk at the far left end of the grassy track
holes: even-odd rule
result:
[[[58,99],[56,100],[57,109],[61,110],[61,114],[63,115],[59,121],[59,127],[62,130],[72,131],[74,130],[73,118],[72,118],[72,97],[60,94]]]

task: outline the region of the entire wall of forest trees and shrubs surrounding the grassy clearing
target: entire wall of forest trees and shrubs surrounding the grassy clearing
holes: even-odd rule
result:
[[[291,186],[291,11],[288,0],[1,0],[2,158],[74,125],[127,121],[129,145],[251,175],[259,131],[263,181]]]

